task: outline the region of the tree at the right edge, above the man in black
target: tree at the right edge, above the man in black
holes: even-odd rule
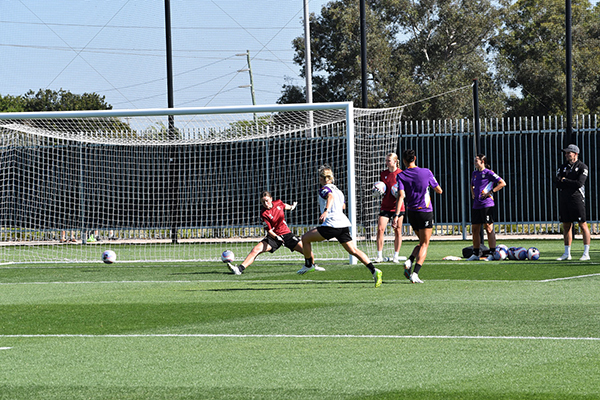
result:
[[[518,94],[508,115],[566,113],[564,0],[518,0],[506,12],[505,28],[493,40],[496,65],[506,86]],[[600,111],[600,7],[572,1],[573,112]]]

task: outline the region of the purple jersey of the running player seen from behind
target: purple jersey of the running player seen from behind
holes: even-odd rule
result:
[[[404,190],[407,211],[432,212],[429,187],[437,187],[433,173],[427,168],[413,167],[400,172],[396,177],[398,190]]]

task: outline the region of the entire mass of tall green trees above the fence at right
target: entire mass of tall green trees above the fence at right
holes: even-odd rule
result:
[[[572,9],[574,112],[597,113],[600,6],[573,0]],[[358,0],[311,16],[315,101],[361,104],[359,22]],[[471,118],[470,93],[448,92],[478,79],[482,117],[564,113],[562,0],[371,0],[367,29],[369,107],[410,104],[409,119]],[[304,38],[293,44],[303,66]],[[279,101],[303,96],[286,85]]]

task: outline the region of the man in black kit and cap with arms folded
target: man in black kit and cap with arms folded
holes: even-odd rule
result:
[[[579,223],[583,233],[583,255],[581,261],[590,259],[590,229],[585,216],[585,181],[588,177],[588,167],[579,160],[579,147],[570,144],[566,149],[565,162],[556,171],[554,182],[558,188],[558,219],[563,223],[565,252],[557,258],[558,261],[571,259],[571,242],[573,241],[573,222]]]

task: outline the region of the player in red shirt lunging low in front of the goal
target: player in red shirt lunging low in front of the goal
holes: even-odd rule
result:
[[[266,251],[274,253],[281,245],[284,245],[290,251],[297,251],[300,254],[304,254],[302,240],[290,231],[285,222],[284,215],[285,210],[294,210],[298,203],[294,202],[292,205],[289,205],[281,200],[273,200],[271,193],[264,191],[260,194],[260,204],[260,218],[267,230],[267,236],[254,246],[250,254],[246,256],[246,259],[240,265],[236,266],[232,263],[227,263],[229,270],[236,275],[241,275],[259,254]],[[315,271],[325,271],[325,269],[315,266]]]

